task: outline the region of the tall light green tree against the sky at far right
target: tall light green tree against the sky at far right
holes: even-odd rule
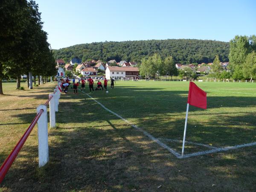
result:
[[[236,35],[230,40],[229,68],[235,70],[236,66],[241,66],[247,54],[250,52],[249,40],[247,36]],[[238,70],[239,68],[237,68]]]

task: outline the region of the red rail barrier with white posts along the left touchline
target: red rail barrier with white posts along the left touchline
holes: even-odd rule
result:
[[[31,122],[19,142],[13,148],[12,152],[3,162],[0,167],[0,183],[4,179],[6,173],[12,166],[13,161],[17,157],[20,149],[29,137],[29,134],[38,123],[38,164],[39,167],[44,166],[49,161],[49,148],[48,148],[48,121],[47,121],[47,105],[49,103],[49,117],[50,117],[50,128],[55,127],[55,112],[58,112],[58,103],[61,96],[60,84],[55,87],[54,92],[49,94],[49,99],[44,105],[39,105],[36,109],[37,115]]]

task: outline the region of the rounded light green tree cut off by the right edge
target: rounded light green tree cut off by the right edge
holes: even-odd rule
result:
[[[256,78],[256,52],[253,51],[247,55],[242,72],[245,79],[250,78],[251,81]]]

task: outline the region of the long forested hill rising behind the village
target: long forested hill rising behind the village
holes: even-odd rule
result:
[[[74,57],[82,58],[83,61],[115,59],[117,62],[122,60],[140,62],[147,55],[159,53],[162,58],[172,55],[177,63],[209,63],[214,60],[215,55],[219,55],[223,62],[228,61],[229,43],[196,39],[106,41],[55,49],[53,53],[56,59],[62,58],[66,62]]]

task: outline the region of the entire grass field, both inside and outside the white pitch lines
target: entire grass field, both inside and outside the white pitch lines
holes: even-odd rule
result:
[[[207,92],[208,108],[190,107],[186,140],[192,143],[185,154],[256,141],[256,84],[197,84]],[[9,96],[0,96],[0,163],[54,87],[3,85]],[[188,85],[116,81],[108,94],[90,96],[181,153]],[[58,127],[49,130],[50,162],[37,168],[35,128],[0,191],[255,191],[255,146],[178,159],[86,94],[71,91],[61,95]]]

